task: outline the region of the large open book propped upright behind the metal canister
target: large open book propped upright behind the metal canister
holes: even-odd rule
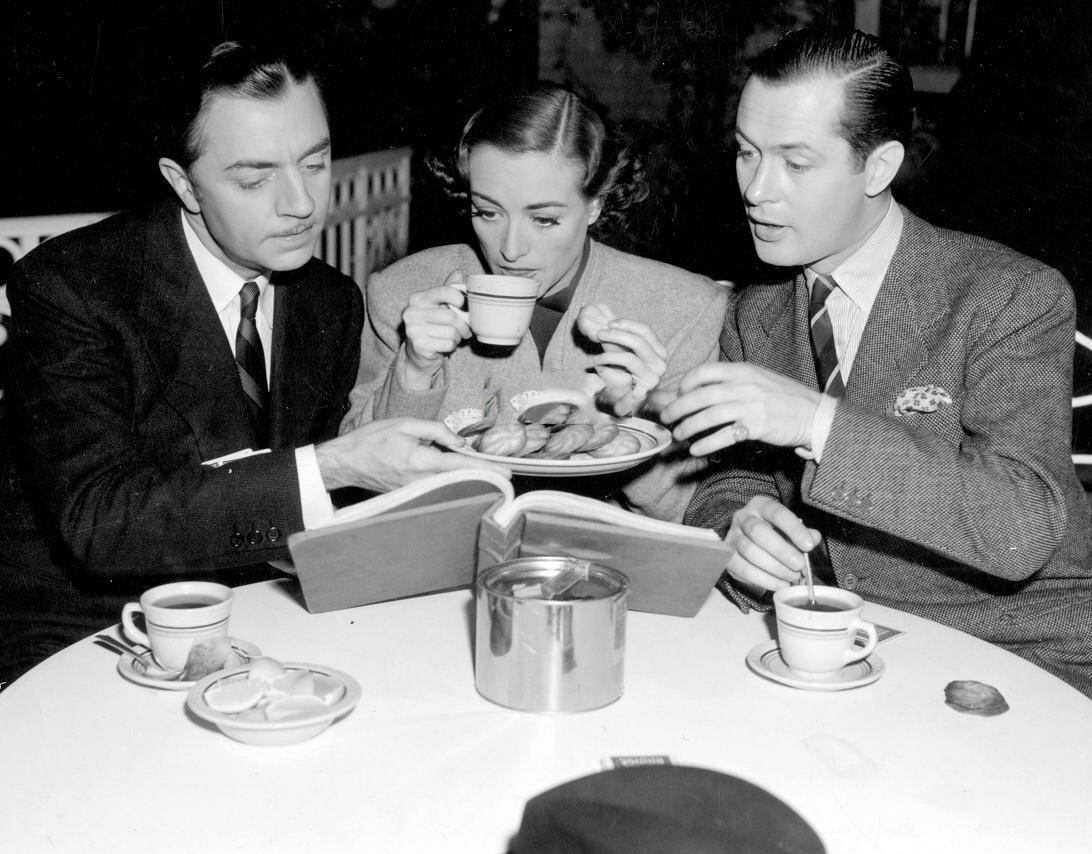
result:
[[[337,510],[288,537],[308,610],[465,586],[503,560],[569,555],[622,572],[629,608],[692,617],[727,560],[716,532],[593,498],[515,497],[501,475],[447,472]]]

